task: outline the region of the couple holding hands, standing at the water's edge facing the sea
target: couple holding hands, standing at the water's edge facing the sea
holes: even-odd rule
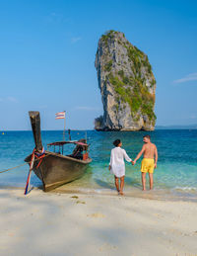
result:
[[[141,172],[142,172],[142,186],[143,191],[146,190],[146,174],[149,173],[150,180],[150,190],[153,189],[154,184],[154,169],[157,168],[158,162],[158,149],[157,146],[151,142],[151,136],[145,135],[143,136],[144,145],[142,150],[138,153],[135,160],[132,161],[131,158],[127,155],[126,151],[121,148],[122,142],[120,139],[116,139],[113,141],[113,145],[115,146],[111,150],[110,154],[110,163],[109,163],[109,171],[114,175],[115,178],[115,187],[117,192],[120,195],[123,195],[123,187],[124,187],[124,176],[125,176],[125,163],[124,159],[127,162],[131,162],[135,165],[136,161],[143,154],[143,160],[141,164]],[[119,187],[119,179],[120,179],[120,187]]]

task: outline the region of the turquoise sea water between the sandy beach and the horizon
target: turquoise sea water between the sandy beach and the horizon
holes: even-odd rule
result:
[[[155,195],[197,197],[197,130],[155,130],[145,131],[87,131],[88,142],[91,144],[90,155],[93,162],[86,174],[79,180],[69,183],[62,188],[82,190],[84,192],[114,191],[113,177],[108,172],[112,141],[122,140],[122,147],[131,158],[141,149],[145,133],[152,136],[159,151],[158,168],[155,170]],[[42,142],[46,144],[62,139],[62,131],[42,131]],[[72,139],[85,137],[85,131],[71,131]],[[33,151],[32,131],[5,131],[0,134],[0,170],[24,163],[24,158]],[[126,163],[125,193],[141,195],[141,173],[139,160],[135,166]],[[16,170],[0,174],[0,187],[25,187],[28,165]],[[33,174],[33,187],[41,185]],[[148,186],[147,179],[147,188]],[[62,189],[61,188],[61,189]],[[137,195],[136,194],[136,195]],[[142,194],[144,195],[144,194]]]

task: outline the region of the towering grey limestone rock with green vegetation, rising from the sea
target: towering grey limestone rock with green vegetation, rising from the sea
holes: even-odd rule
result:
[[[148,56],[123,33],[109,31],[99,39],[95,62],[103,116],[101,130],[153,130],[156,79]]]

